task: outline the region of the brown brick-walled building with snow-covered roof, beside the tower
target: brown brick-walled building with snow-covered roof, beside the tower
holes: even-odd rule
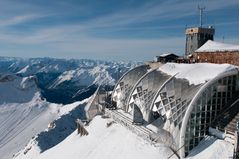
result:
[[[239,66],[239,45],[208,40],[195,51],[193,59],[199,63],[229,63]]]

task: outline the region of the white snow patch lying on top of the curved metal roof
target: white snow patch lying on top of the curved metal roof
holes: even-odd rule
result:
[[[215,78],[223,72],[235,71],[236,67],[230,64],[167,63],[159,67],[159,70],[172,76],[176,75],[176,78],[187,79],[190,84],[198,85]]]

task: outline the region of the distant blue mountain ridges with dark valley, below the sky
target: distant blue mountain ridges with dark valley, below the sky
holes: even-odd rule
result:
[[[34,76],[47,101],[69,104],[88,98],[98,85],[112,89],[118,78],[137,64],[89,59],[0,57],[0,73]]]

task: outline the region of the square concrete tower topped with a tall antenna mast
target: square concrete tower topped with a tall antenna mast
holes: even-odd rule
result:
[[[205,7],[198,6],[200,13],[199,27],[192,27],[186,29],[186,46],[185,56],[194,53],[199,47],[205,44],[208,40],[214,39],[215,29],[212,26],[203,27],[203,11]]]

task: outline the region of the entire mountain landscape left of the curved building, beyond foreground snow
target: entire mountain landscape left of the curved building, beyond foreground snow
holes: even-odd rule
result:
[[[31,139],[41,151],[60,143],[75,130],[75,119],[85,118],[96,88],[112,89],[136,64],[0,57],[0,158],[14,157]]]

